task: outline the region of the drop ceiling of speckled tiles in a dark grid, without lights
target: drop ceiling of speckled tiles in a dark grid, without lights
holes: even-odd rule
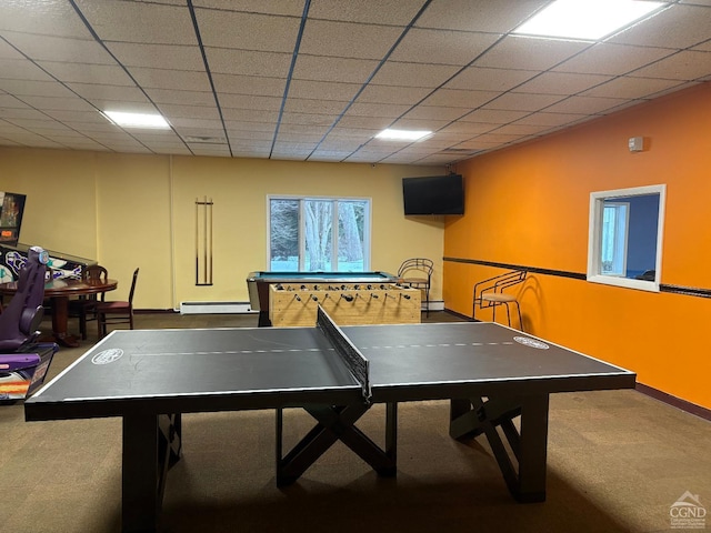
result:
[[[711,81],[711,0],[599,41],[512,33],[550,2],[0,2],[0,145],[447,165]]]

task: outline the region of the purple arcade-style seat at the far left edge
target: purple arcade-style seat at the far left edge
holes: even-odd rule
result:
[[[18,291],[0,314],[0,352],[14,352],[33,340],[44,308],[44,272],[48,254],[39,247],[30,248],[20,270]]]

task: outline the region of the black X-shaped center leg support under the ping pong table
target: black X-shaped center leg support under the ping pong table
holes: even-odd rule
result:
[[[397,473],[397,403],[385,408],[385,449],[381,450],[368,435],[356,428],[356,422],[370,405],[354,404],[304,405],[318,424],[284,456],[283,455],[283,410],[277,410],[277,485],[286,486],[296,482],[337,441],[343,442],[379,475],[392,476]]]

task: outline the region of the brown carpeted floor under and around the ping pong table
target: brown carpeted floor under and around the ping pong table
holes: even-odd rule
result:
[[[429,319],[442,320],[457,318]],[[161,313],[137,322],[243,326],[256,318]],[[61,350],[50,378],[92,342]],[[310,420],[287,411],[287,439],[296,442]],[[273,412],[183,415],[183,456],[168,476],[161,531],[651,533],[671,531],[670,507],[685,492],[711,511],[711,423],[639,392],[552,395],[540,504],[515,503],[485,440],[452,441],[448,420],[447,402],[401,404],[395,479],[379,479],[339,443],[278,489]],[[375,405],[359,426],[382,442],[382,421]],[[26,423],[20,402],[0,405],[0,532],[120,531],[120,420]],[[702,526],[711,529],[711,517]]]

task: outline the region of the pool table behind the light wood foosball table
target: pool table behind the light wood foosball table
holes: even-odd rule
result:
[[[397,283],[398,276],[388,272],[278,272],[257,271],[247,276],[249,302],[259,311],[259,325],[271,325],[269,320],[269,285],[276,283]]]

